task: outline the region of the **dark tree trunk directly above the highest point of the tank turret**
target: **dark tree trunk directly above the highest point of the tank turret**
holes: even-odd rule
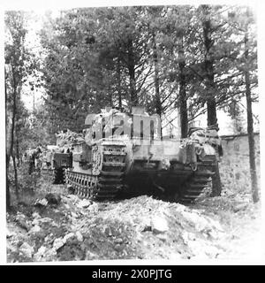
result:
[[[130,91],[131,91],[131,103],[132,106],[138,105],[138,97],[136,94],[136,82],[135,82],[135,62],[133,54],[133,40],[128,41],[128,71],[130,78]]]

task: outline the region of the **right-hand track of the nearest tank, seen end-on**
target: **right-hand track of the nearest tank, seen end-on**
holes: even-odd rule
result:
[[[180,191],[179,203],[193,203],[210,186],[214,174],[213,164],[198,164],[197,170],[186,180]]]

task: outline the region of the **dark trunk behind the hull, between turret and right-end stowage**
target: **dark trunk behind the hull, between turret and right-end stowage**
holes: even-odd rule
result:
[[[178,51],[179,112],[180,112],[179,116],[180,116],[181,138],[186,138],[188,133],[185,66],[186,66],[186,60],[184,56],[183,42],[181,42],[181,49]]]

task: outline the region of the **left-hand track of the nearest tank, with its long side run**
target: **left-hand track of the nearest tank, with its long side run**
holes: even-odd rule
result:
[[[102,150],[101,150],[102,149]],[[119,141],[102,142],[93,150],[91,173],[66,170],[65,182],[75,195],[89,199],[112,199],[123,188],[125,171],[125,144]]]

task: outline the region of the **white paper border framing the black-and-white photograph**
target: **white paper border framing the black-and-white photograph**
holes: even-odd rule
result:
[[[265,16],[264,16],[264,4],[265,2],[263,0],[256,0],[256,1],[250,1],[250,0],[223,0],[223,1],[180,1],[180,0],[175,0],[175,1],[151,1],[151,0],[133,0],[130,1],[130,3],[126,5],[155,5],[155,4],[239,4],[239,5],[249,5],[254,8],[255,11],[257,11],[258,14],[258,64],[259,64],[259,94],[260,94],[260,109],[261,109],[261,145],[264,142],[264,131],[262,129],[262,125],[264,122],[264,114],[263,110],[265,109],[265,95],[262,92],[263,89],[265,89],[265,66],[262,64],[265,62],[265,33],[264,33],[264,27],[265,27]],[[122,6],[125,5],[124,1],[106,1],[106,0],[90,0],[89,5],[87,5],[87,1],[85,0],[75,0],[75,1],[65,1],[65,0],[46,0],[45,2],[38,2],[35,0],[4,0],[4,3],[2,2],[0,4],[0,19],[1,22],[4,23],[4,11],[6,10],[53,10],[53,9],[62,9],[62,10],[67,10],[75,7],[86,7],[86,6]],[[0,26],[0,38],[3,38],[4,34],[4,25]],[[4,54],[4,41],[1,41],[1,54]],[[1,66],[4,66],[4,56],[1,57]],[[6,225],[6,220],[5,220],[5,107],[4,107],[4,67],[1,72],[1,78],[0,81],[2,82],[2,96],[0,98],[0,107],[1,107],[1,118],[0,118],[0,128],[1,128],[1,137],[0,137],[0,148],[2,151],[2,158],[1,158],[1,185],[0,186],[0,202],[1,202],[1,210],[0,210],[0,264],[6,264],[6,239],[5,239],[5,225]],[[261,168],[264,167],[264,150],[261,147]],[[261,169],[262,172],[262,169]],[[261,180],[261,191],[262,187],[264,187],[264,180],[262,178]],[[264,203],[264,194],[261,195],[262,198],[262,203]],[[262,223],[265,223],[265,216],[264,216],[264,210],[262,210]],[[263,235],[265,229],[264,226],[262,226],[262,232]],[[265,239],[265,237],[263,237]],[[265,251],[264,246],[261,247],[263,251]],[[265,252],[264,252],[265,254]],[[58,264],[64,264],[64,265],[128,265],[128,264],[147,264],[147,265],[152,265],[152,264],[187,264],[187,265],[193,265],[193,264],[214,264],[214,265],[223,265],[223,264],[264,264],[264,257],[262,258],[257,258],[256,260],[200,260],[198,261],[193,261],[193,260],[183,260],[183,261],[171,261],[171,260],[100,260],[100,261],[92,261],[92,262],[47,262],[47,263],[18,263],[14,265],[58,265]],[[96,270],[96,268],[95,268]]]

